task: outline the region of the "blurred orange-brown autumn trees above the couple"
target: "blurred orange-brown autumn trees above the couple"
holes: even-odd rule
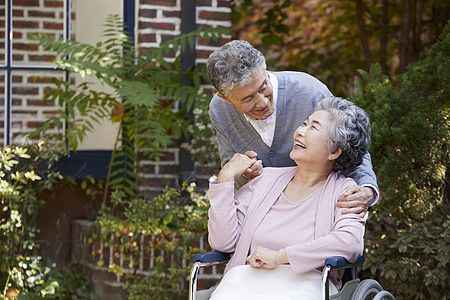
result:
[[[393,77],[425,57],[450,16],[446,0],[234,0],[234,37],[261,50],[270,70],[302,71],[335,95],[356,70]]]

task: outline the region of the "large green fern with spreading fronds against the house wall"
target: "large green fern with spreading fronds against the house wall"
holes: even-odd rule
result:
[[[75,72],[82,77],[95,76],[109,86],[113,93],[99,93],[90,88],[89,83],[71,87],[67,82],[54,79],[45,99],[63,107],[59,116],[51,118],[31,136],[46,133],[49,128],[67,129],[61,145],[68,142],[77,149],[86,134],[94,130],[95,124],[105,119],[120,122],[115,147],[108,170],[108,189],[122,189],[134,195],[138,189],[139,160],[142,152],[152,159],[158,159],[162,150],[174,138],[186,133],[189,120],[187,111],[194,100],[205,95],[199,94],[200,83],[206,79],[203,67],[194,67],[186,72],[194,86],[182,84],[182,66],[179,54],[192,49],[196,39],[217,40],[228,33],[224,29],[198,29],[195,32],[175,37],[159,47],[142,51],[138,55],[131,39],[123,30],[125,24],[118,15],[110,15],[103,32],[105,41],[89,45],[77,41],[64,41],[47,34],[35,34],[33,39],[39,45],[56,54],[55,63],[59,68]],[[165,60],[175,53],[176,59]],[[123,112],[112,116],[114,108],[123,106]],[[181,106],[183,107],[183,106]],[[177,109],[175,109],[177,108]],[[106,200],[106,198],[104,198]]]

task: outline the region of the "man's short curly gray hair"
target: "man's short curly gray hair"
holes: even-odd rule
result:
[[[254,71],[266,69],[266,59],[250,43],[235,40],[211,53],[206,69],[211,84],[229,97],[235,85],[244,86]]]

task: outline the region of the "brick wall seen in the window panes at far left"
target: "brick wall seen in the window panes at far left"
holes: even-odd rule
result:
[[[31,33],[42,32],[64,36],[63,0],[14,0],[12,11],[12,65],[15,67],[35,66],[53,67],[54,55],[43,52],[38,43],[30,39]],[[5,59],[5,1],[0,2],[0,59]],[[73,16],[74,19],[74,16]],[[11,133],[12,144],[23,144],[25,134],[33,131],[49,117],[54,116],[59,107],[42,101],[45,87],[51,84],[52,77],[63,78],[63,72],[21,71],[11,74]],[[4,116],[4,88],[6,72],[0,73],[1,107],[0,117]],[[3,144],[4,123],[0,122],[0,143]],[[55,131],[53,131],[55,133]]]

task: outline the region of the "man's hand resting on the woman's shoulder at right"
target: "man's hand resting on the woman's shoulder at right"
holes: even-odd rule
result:
[[[375,191],[371,187],[352,186],[339,197],[337,206],[346,208],[343,214],[358,214],[362,218],[374,199]]]

